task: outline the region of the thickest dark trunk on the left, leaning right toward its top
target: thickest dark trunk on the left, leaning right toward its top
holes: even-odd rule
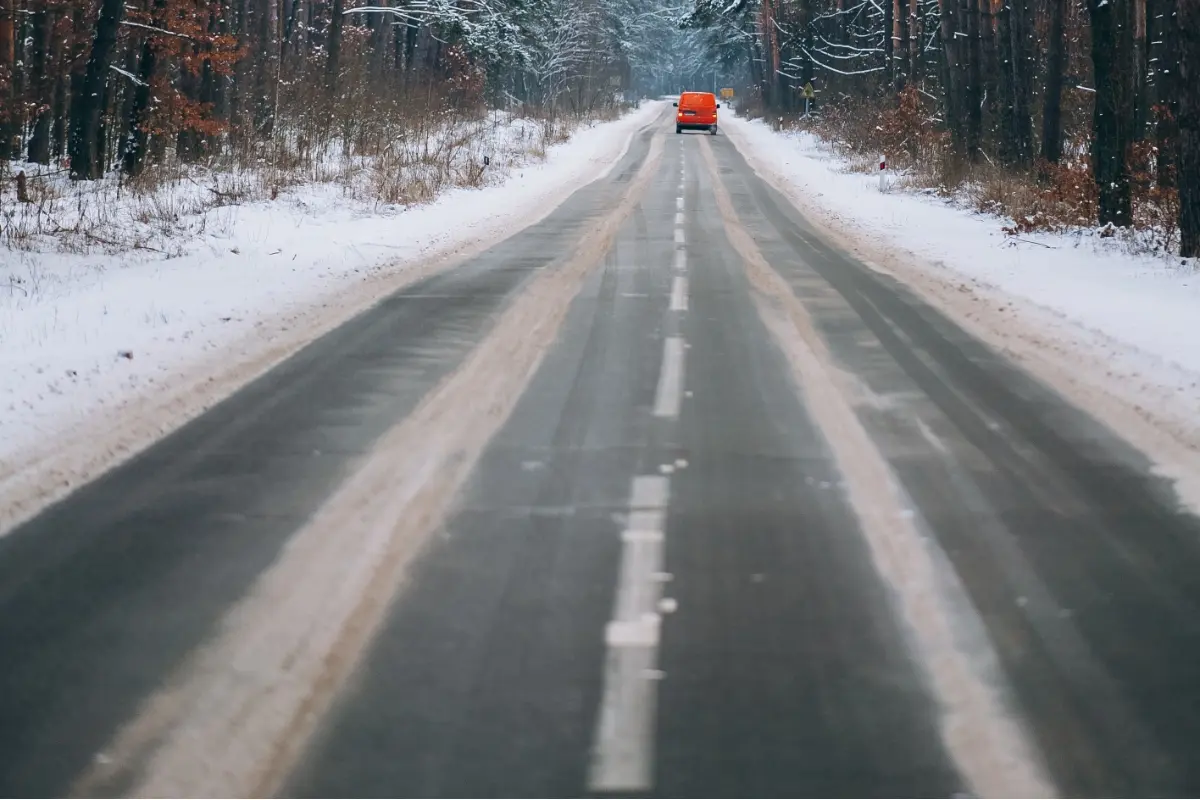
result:
[[[71,112],[71,176],[77,180],[95,180],[103,172],[104,90],[116,49],[116,28],[124,16],[124,0],[101,0],[91,55]]]

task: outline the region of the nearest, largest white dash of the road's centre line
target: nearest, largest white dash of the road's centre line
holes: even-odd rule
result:
[[[605,631],[604,697],[588,783],[593,790],[636,792],[654,783],[662,539],[670,483],[634,479],[629,525],[622,534],[620,573]],[[674,610],[672,607],[671,610]]]

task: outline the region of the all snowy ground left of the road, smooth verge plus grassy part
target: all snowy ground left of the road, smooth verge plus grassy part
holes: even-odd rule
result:
[[[398,143],[390,164],[325,158],[307,180],[191,168],[136,191],[30,179],[35,203],[0,200],[12,231],[0,234],[0,487],[79,447],[55,479],[73,485],[442,257],[536,221],[661,107],[575,126],[455,121]],[[380,181],[401,192],[383,196]]]

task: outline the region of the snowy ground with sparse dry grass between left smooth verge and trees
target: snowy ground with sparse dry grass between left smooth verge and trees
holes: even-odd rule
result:
[[[450,188],[500,182],[514,168],[544,158],[581,124],[500,110],[484,116],[440,112],[406,121],[371,132],[385,136],[383,143],[364,142],[365,132],[320,143],[282,132],[260,143],[257,154],[242,154],[240,163],[168,160],[136,179],[113,172],[72,181],[59,166],[12,162],[10,175],[25,173],[26,197],[0,194],[0,245],[30,253],[178,257],[197,240],[228,239],[240,211],[258,201],[304,207],[328,197],[362,213],[390,216]]]

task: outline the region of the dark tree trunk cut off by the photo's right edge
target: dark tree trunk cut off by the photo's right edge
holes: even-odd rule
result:
[[[1180,254],[1200,258],[1200,0],[1180,0]]]

